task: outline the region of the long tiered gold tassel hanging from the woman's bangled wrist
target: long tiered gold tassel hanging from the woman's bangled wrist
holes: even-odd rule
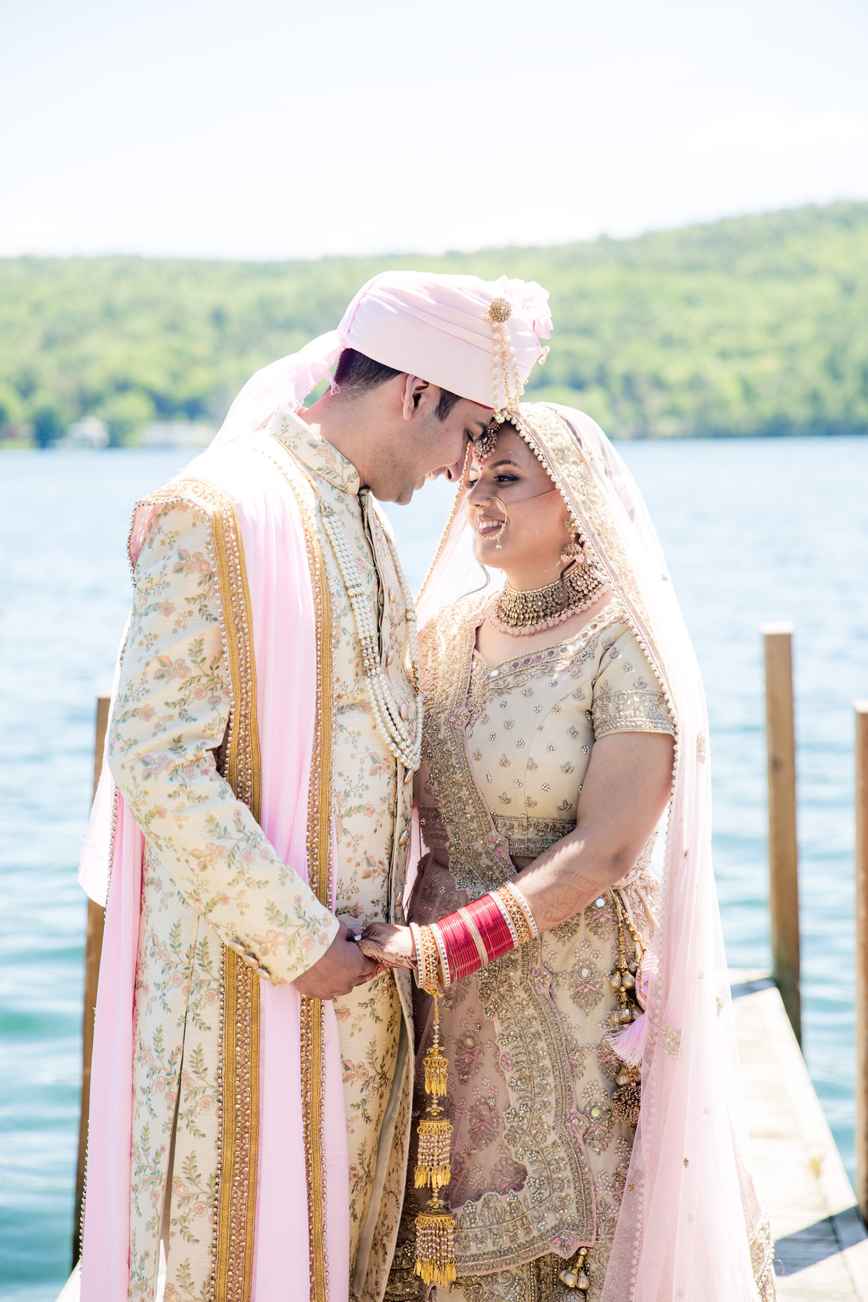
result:
[[[419,1159],[416,1163],[416,1189],[431,1186],[433,1198],[424,1211],[416,1216],[416,1264],[415,1273],[426,1285],[436,1284],[446,1288],[455,1282],[455,1217],[452,1215],[439,1193],[449,1184],[449,1147],[452,1142],[452,1121],[442,1115],[437,1098],[446,1094],[448,1059],[440,1049],[440,1009],[437,995],[435,1001],[433,1043],[424,1056],[426,1094],[432,1096],[424,1120],[419,1122]]]

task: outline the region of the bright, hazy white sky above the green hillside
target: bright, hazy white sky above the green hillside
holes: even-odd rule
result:
[[[868,198],[865,0],[0,0],[0,255],[561,243]]]

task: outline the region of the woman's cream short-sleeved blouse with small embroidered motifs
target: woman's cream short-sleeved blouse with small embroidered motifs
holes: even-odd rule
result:
[[[616,603],[544,651],[496,665],[474,651],[466,703],[472,772],[513,857],[536,858],[575,828],[595,741],[674,734],[657,676]],[[445,846],[424,790],[420,803],[426,844]]]

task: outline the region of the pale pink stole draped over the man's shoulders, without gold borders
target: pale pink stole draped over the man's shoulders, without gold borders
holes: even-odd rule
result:
[[[275,448],[265,435],[256,436],[256,443],[269,450]],[[277,448],[276,456],[286,454]],[[282,473],[250,445],[204,453],[186,467],[182,478],[207,480],[236,505],[256,664],[260,823],[278,858],[307,879],[316,624],[299,510]],[[182,484],[178,496],[183,496]],[[152,510],[144,508],[134,522],[130,542],[134,559]],[[331,728],[331,720],[323,724]],[[111,775],[104,773],[105,777],[111,781]],[[104,820],[109,809],[111,801],[98,801],[94,818]],[[100,829],[91,831],[100,835]],[[104,837],[104,828],[102,832]],[[118,1302],[129,1293],[133,1017],[143,846],[143,837],[118,793],[94,1032],[82,1302]],[[329,1302],[345,1302],[349,1159],[337,1021],[331,1003],[325,1004],[324,1014],[328,1297]],[[294,986],[262,983],[260,1142],[251,1302],[310,1299],[310,1285],[305,1282],[310,1247],[299,1019],[301,997]]]

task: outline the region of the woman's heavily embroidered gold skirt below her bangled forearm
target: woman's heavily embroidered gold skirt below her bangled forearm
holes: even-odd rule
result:
[[[614,889],[647,941],[656,880],[636,867]],[[410,917],[431,922],[466,900],[449,870],[428,858]],[[616,962],[616,907],[606,892],[441,997],[445,1107],[454,1128],[442,1197],[455,1213],[458,1282],[437,1298],[548,1302],[563,1292],[566,1259],[587,1246],[587,1297],[599,1299],[634,1139],[634,1128],[610,1108],[621,1070],[604,1038],[617,1006],[609,979]],[[420,1068],[432,1022],[422,991],[415,1014]],[[414,1113],[424,1105],[416,1077]],[[414,1163],[415,1124],[410,1172]],[[414,1273],[414,1221],[424,1202],[410,1177],[385,1302],[435,1295]]]

